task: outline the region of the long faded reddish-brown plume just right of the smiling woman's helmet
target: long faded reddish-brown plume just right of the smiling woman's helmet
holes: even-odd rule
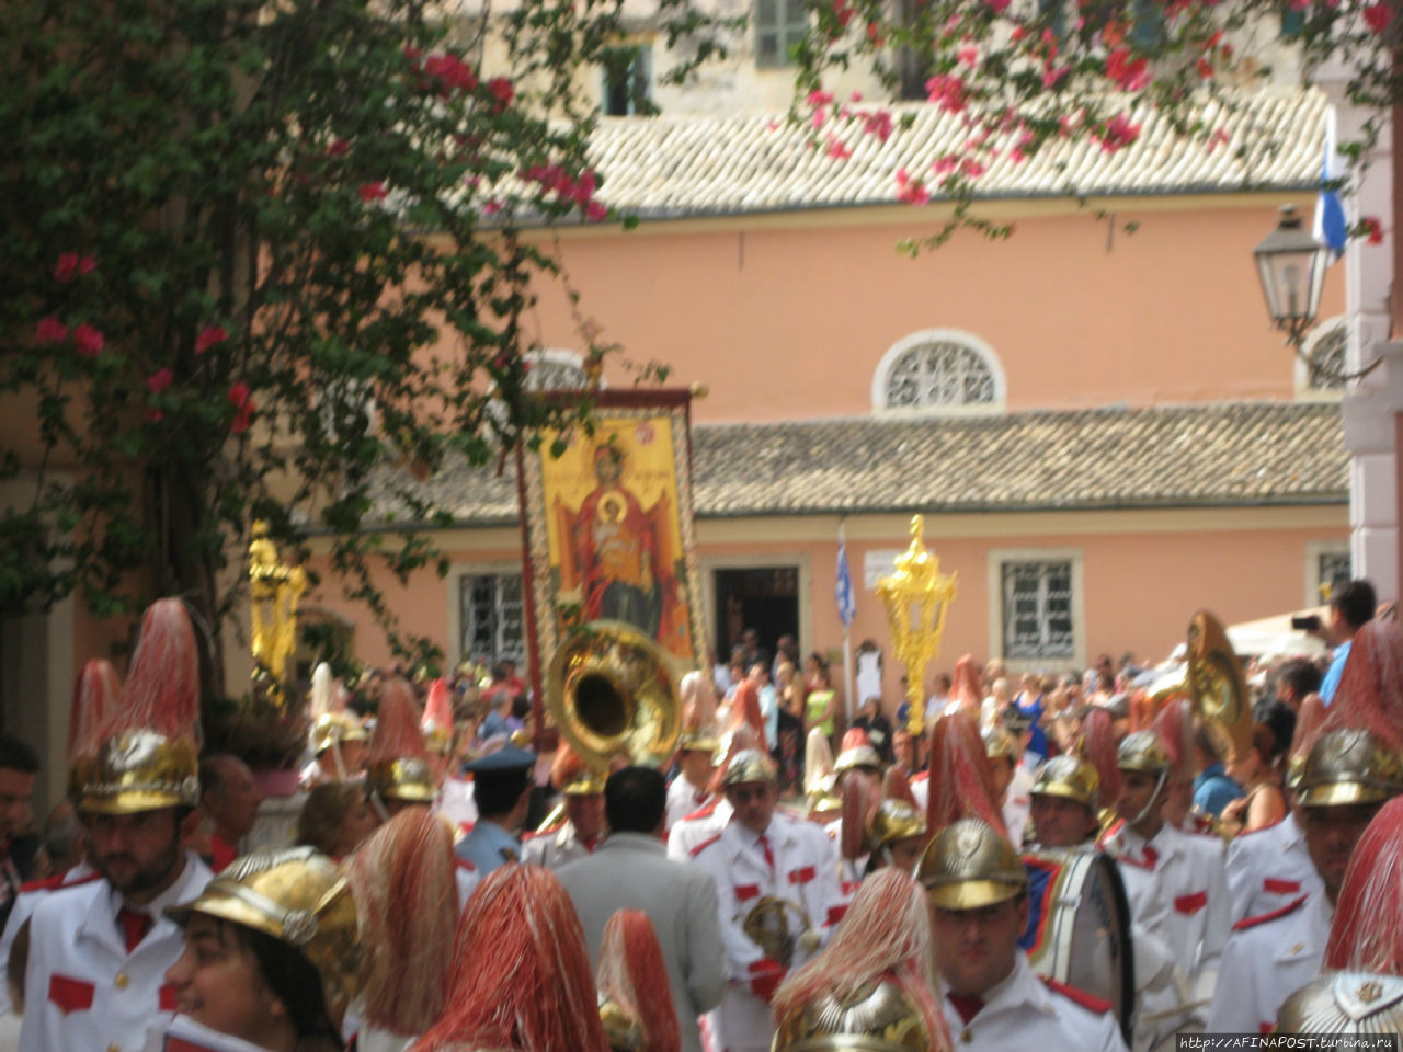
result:
[[[407,808],[347,864],[363,948],[358,1052],[401,1052],[442,1014],[464,905],[456,861],[448,823]]]

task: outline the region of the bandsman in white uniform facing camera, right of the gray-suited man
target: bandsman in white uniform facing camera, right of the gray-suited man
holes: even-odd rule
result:
[[[731,757],[724,788],[734,814],[693,851],[716,882],[731,985],[713,1014],[717,1048],[769,1052],[770,999],[842,917],[838,857],[824,830],[776,812],[774,762],[759,749]],[[798,938],[777,937],[800,931]]]

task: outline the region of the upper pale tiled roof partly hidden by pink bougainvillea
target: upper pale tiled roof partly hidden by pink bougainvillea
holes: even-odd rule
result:
[[[864,107],[856,107],[864,108]],[[1299,189],[1319,184],[1326,98],[1317,90],[1268,87],[1233,107],[1207,101],[1201,118],[1228,142],[1209,149],[1179,137],[1152,111],[1135,144],[1106,153],[1096,143],[1049,144],[1014,164],[995,161],[978,180],[982,198]],[[926,102],[891,108],[909,116],[882,143],[857,128],[842,132],[852,157],[835,160],[810,130],[783,114],[605,118],[591,140],[603,175],[600,198],[641,217],[784,212],[897,202],[897,171],[926,175],[969,132],[960,115]],[[832,129],[833,125],[829,125]],[[825,130],[826,133],[826,130]],[[934,192],[934,188],[932,187]]]

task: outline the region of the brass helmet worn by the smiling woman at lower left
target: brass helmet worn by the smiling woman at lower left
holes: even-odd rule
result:
[[[181,926],[192,913],[205,913],[296,950],[317,969],[327,1016],[338,1030],[347,1004],[361,992],[355,899],[340,867],[311,847],[236,858],[198,899],[166,913]]]

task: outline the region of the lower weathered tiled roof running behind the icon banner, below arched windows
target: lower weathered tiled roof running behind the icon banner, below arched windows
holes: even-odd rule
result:
[[[1348,492],[1337,404],[711,424],[692,436],[703,519],[1343,504]],[[372,518],[403,523],[383,483]],[[464,526],[516,522],[513,463],[499,476],[445,467],[415,490]]]

